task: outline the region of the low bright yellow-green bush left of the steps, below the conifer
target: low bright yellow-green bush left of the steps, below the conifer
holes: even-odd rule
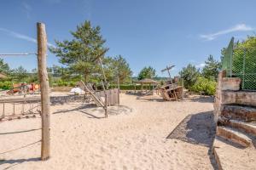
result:
[[[198,77],[195,84],[191,87],[194,92],[204,92],[207,95],[213,95],[216,91],[217,82],[209,80],[205,77]]]

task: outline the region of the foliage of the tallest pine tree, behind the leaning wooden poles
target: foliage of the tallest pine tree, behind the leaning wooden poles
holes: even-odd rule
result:
[[[49,50],[60,58],[61,64],[67,65],[71,73],[84,75],[84,82],[88,82],[90,75],[99,72],[97,56],[106,50],[103,47],[106,41],[100,31],[100,26],[93,27],[86,20],[76,31],[71,31],[72,40],[55,41],[57,48]]]

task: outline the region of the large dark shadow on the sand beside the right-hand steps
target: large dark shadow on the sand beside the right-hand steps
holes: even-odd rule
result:
[[[207,111],[186,116],[166,139],[178,139],[189,144],[207,146],[212,167],[217,169],[214,156],[212,155],[212,144],[215,133],[216,124],[214,122],[213,112]]]

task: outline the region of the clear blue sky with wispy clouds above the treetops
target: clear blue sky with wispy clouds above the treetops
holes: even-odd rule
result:
[[[72,38],[69,31],[84,20],[102,27],[110,48],[121,54],[134,75],[151,65],[160,77],[166,65],[203,66],[209,54],[216,59],[233,36],[255,35],[253,0],[9,0],[0,5],[0,53],[36,52],[36,22],[46,24],[49,45]],[[37,67],[36,56],[2,57],[11,67]],[[60,65],[49,54],[48,65]]]

